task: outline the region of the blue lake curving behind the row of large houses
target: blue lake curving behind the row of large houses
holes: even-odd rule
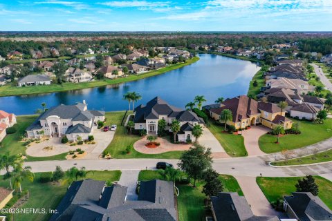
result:
[[[196,95],[204,95],[208,101],[205,104],[211,104],[217,97],[246,95],[250,80],[259,70],[250,61],[208,54],[199,57],[194,64],[138,81],[58,93],[0,97],[0,110],[26,115],[42,108],[42,102],[51,107],[86,100],[91,110],[122,111],[128,108],[128,102],[122,99],[128,91],[142,95],[136,106],[157,95],[179,108],[185,108]]]

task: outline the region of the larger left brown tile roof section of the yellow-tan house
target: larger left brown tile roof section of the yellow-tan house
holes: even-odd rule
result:
[[[258,102],[255,99],[251,99],[246,95],[241,95],[239,97],[234,97],[231,99],[226,99],[225,102],[221,103],[223,106],[220,108],[212,108],[211,112],[220,115],[225,109],[232,111],[233,122],[239,122],[241,119],[246,119],[250,115],[259,114],[257,105]]]

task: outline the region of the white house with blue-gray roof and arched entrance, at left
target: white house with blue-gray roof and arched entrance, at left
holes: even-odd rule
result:
[[[104,111],[88,111],[85,101],[75,105],[60,104],[39,115],[26,128],[26,133],[29,138],[38,138],[44,131],[44,135],[50,137],[66,135],[71,141],[77,140],[77,137],[87,140],[96,124],[104,119]]]

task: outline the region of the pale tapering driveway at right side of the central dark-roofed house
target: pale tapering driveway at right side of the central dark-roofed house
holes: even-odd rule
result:
[[[221,155],[223,157],[229,157],[226,151],[223,149],[223,146],[216,140],[216,137],[209,131],[208,128],[203,128],[203,135],[199,137],[199,144],[211,148],[211,151],[214,155]]]

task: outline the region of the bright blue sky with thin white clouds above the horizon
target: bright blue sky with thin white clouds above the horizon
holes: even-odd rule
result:
[[[332,0],[0,0],[0,30],[332,31]]]

